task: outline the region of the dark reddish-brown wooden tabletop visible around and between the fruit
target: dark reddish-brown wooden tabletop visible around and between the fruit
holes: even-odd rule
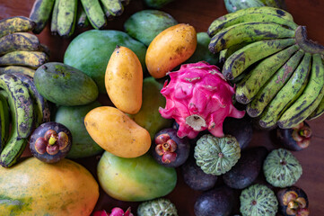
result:
[[[0,19],[15,15],[29,16],[31,6],[34,0],[1,0],[0,1]],[[288,11],[293,14],[295,23],[307,26],[308,35],[311,40],[324,44],[324,1],[323,0],[286,0]],[[131,4],[126,7],[124,14],[115,21],[109,22],[107,29],[123,30],[123,23],[129,15],[144,9],[144,4],[140,0],[132,0]],[[206,31],[209,24],[215,18],[226,14],[223,0],[176,0],[168,4],[162,11],[171,14],[179,23],[189,23],[193,25],[197,31]],[[74,33],[75,37],[81,31]],[[39,40],[48,45],[51,50],[50,61],[63,60],[64,52],[67,45],[73,39],[61,39],[52,36],[48,27],[39,34]],[[311,215],[324,215],[324,116],[319,119],[309,121],[313,136],[311,146],[300,152],[293,154],[302,164],[303,174],[297,182],[297,186],[308,194],[310,201]],[[264,145],[268,149],[278,148],[279,146],[272,139],[272,132],[255,131],[250,146]],[[78,162],[89,168],[95,175],[95,166],[98,157],[80,159]],[[191,190],[184,184],[178,170],[178,184],[176,189],[167,197],[174,202],[179,210],[180,216],[193,216],[193,206],[200,192]],[[262,180],[261,180],[262,181]],[[221,184],[221,180],[217,184]],[[119,202],[110,198],[101,192],[101,197],[97,203],[96,209],[109,210],[114,206],[120,206],[124,209],[132,206],[136,210],[138,202]],[[1,214],[1,213],[0,213]]]

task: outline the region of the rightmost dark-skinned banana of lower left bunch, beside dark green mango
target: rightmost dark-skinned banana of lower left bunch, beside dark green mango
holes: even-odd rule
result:
[[[34,102],[35,127],[37,128],[43,122],[50,121],[48,102],[37,91],[33,78],[31,76],[19,73],[13,73],[13,76],[16,76],[22,82],[22,84],[28,88],[31,99]]]

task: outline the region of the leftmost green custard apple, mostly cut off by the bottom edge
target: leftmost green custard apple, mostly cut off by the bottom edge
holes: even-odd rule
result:
[[[137,208],[137,216],[178,216],[176,206],[168,199],[160,198],[142,202]]]

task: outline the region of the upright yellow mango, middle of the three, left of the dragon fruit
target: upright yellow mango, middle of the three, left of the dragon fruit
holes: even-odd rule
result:
[[[109,58],[105,85],[109,98],[122,112],[135,114],[142,106],[143,69],[136,54],[117,47]]]

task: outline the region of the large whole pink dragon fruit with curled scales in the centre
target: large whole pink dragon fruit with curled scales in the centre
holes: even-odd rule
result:
[[[242,118],[232,104],[234,88],[229,85],[218,67],[205,61],[186,64],[170,72],[161,94],[166,105],[159,112],[163,118],[173,118],[180,125],[177,135],[194,139],[199,131],[209,130],[215,137],[223,137],[223,121],[229,117]]]

